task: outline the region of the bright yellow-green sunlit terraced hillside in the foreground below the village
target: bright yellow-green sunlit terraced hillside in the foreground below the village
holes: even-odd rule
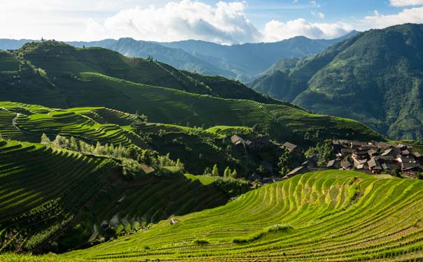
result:
[[[94,261],[421,261],[423,182],[299,175],[61,256]]]

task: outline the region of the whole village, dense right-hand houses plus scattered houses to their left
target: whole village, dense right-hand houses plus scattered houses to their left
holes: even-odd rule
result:
[[[298,145],[286,142],[275,143],[267,136],[244,140],[241,136],[231,136],[231,143],[250,149],[262,149],[269,145],[285,147],[292,155],[303,157],[303,151]],[[294,175],[317,170],[355,170],[369,175],[389,174],[394,176],[419,178],[423,173],[423,156],[413,150],[413,146],[406,144],[392,145],[382,141],[332,140],[334,158],[325,166],[317,165],[317,157],[303,157],[303,161],[286,175],[280,175],[270,163],[263,163],[268,170],[268,177],[261,177],[256,173],[248,177],[249,180],[259,180],[262,184],[269,184],[285,180]]]

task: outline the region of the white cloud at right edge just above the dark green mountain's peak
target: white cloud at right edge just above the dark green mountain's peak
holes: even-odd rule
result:
[[[385,28],[395,24],[423,23],[423,7],[404,9],[394,15],[380,15],[375,11],[375,15],[366,16],[361,24],[369,28]]]

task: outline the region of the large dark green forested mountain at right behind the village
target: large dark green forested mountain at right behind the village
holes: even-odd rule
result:
[[[249,85],[313,112],[357,119],[389,138],[422,140],[422,50],[422,24],[370,30]]]

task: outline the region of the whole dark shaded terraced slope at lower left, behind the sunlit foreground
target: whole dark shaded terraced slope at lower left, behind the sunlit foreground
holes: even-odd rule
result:
[[[214,184],[184,176],[125,180],[119,161],[13,140],[0,141],[0,193],[1,252],[64,252],[228,199]]]

